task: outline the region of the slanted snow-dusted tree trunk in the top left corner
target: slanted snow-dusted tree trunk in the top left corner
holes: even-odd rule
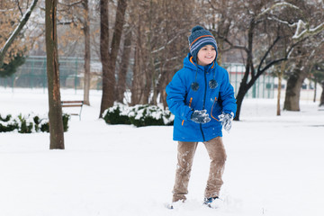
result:
[[[28,8],[25,14],[23,14],[23,18],[20,20],[20,23],[17,25],[17,27],[14,29],[13,33],[10,35],[9,39],[6,40],[4,43],[4,47],[0,49],[0,68],[4,65],[4,57],[9,49],[9,47],[13,44],[14,39],[19,35],[19,33],[23,30],[23,26],[27,23],[31,16],[32,10],[35,8],[38,0],[33,0],[31,3],[31,6]],[[1,72],[1,70],[0,70]]]

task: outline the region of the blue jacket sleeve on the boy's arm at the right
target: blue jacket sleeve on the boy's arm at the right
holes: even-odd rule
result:
[[[222,112],[234,113],[234,117],[237,111],[237,103],[234,96],[234,88],[229,83],[229,73],[223,69],[223,82],[220,85],[220,97],[222,100]]]

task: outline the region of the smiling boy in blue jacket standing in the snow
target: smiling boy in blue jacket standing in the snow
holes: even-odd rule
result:
[[[175,114],[174,140],[178,141],[172,202],[185,201],[194,152],[198,142],[203,142],[211,159],[203,203],[216,207],[226,160],[221,128],[230,130],[237,104],[229,74],[216,62],[217,43],[211,32],[195,26],[188,40],[190,53],[184,67],[166,86],[166,102]]]

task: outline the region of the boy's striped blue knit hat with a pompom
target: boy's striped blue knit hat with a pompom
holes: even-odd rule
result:
[[[202,47],[210,44],[217,52],[217,43],[215,38],[212,36],[211,31],[205,30],[202,26],[196,25],[193,27],[192,34],[188,38],[190,53],[193,56],[193,60],[197,61],[197,54]],[[215,59],[216,59],[215,58]]]

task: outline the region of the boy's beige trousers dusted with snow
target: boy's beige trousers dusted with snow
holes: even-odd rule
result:
[[[219,196],[220,187],[223,184],[221,176],[224,171],[226,152],[221,137],[203,142],[211,159],[210,173],[205,189],[205,198]],[[173,201],[185,201],[188,193],[188,183],[193,166],[193,156],[198,142],[178,142],[177,166],[175,172],[175,186],[173,189]]]

